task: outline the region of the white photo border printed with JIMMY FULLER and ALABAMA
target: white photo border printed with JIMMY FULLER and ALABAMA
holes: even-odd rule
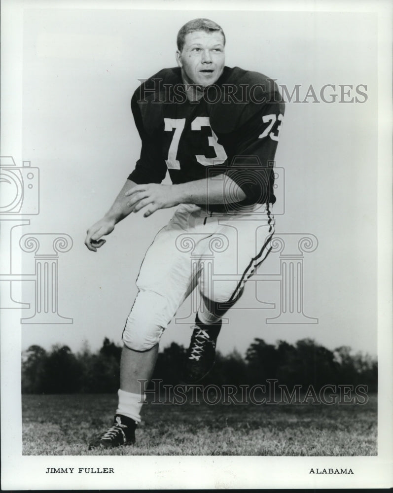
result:
[[[22,148],[25,8],[121,8],[377,12],[378,42],[378,456],[377,457],[27,457],[22,456],[21,333],[1,314],[1,487],[5,490],[392,487],[392,5],[388,1],[48,1],[1,2],[1,149]],[[245,8],[247,5],[247,8]],[[350,36],[351,33],[348,33]],[[22,156],[16,155],[21,161]],[[114,467],[116,474],[45,475],[47,467]],[[310,475],[346,467],[351,476]]]

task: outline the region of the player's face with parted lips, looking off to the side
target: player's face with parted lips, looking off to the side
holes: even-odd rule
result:
[[[214,84],[225,65],[224,38],[221,33],[194,31],[184,38],[181,52],[176,60],[186,84],[203,87]]]

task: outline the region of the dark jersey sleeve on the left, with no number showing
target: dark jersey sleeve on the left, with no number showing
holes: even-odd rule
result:
[[[141,137],[142,148],[135,170],[128,176],[128,179],[137,184],[161,183],[167,172],[167,166],[161,155],[158,132],[147,132],[143,123],[141,106],[146,104],[138,104],[137,93],[131,99],[131,109],[135,125]]]

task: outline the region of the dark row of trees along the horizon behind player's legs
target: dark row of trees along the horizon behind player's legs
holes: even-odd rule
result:
[[[158,354],[153,379],[164,385],[179,384],[185,348],[172,343]],[[23,393],[112,393],[119,387],[121,346],[108,338],[96,353],[87,347],[73,353],[68,346],[55,345],[50,351],[30,346],[22,353]],[[263,384],[276,379],[293,387],[313,385],[366,385],[377,391],[377,361],[368,354],[352,354],[348,346],[330,351],[312,339],[295,344],[277,341],[267,344],[254,339],[245,357],[237,351],[217,352],[212,372],[202,383],[240,386]]]

